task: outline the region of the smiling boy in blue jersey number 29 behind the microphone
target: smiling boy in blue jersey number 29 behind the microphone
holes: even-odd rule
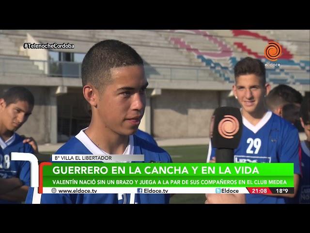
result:
[[[234,76],[233,93],[241,105],[243,121],[242,137],[234,150],[234,162],[294,163],[294,194],[246,194],[246,203],[286,203],[287,198],[296,195],[301,173],[298,131],[291,123],[268,111],[264,99],[270,85],[266,83],[265,67],[261,61],[250,57],[239,61],[234,67]],[[214,156],[215,148],[212,148],[207,162]],[[231,202],[236,196],[231,195]]]

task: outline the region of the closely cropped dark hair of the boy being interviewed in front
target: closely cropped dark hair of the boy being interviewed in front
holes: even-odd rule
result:
[[[142,65],[140,55],[118,40],[103,40],[95,44],[82,62],[83,86],[91,83],[98,90],[111,82],[111,68]]]

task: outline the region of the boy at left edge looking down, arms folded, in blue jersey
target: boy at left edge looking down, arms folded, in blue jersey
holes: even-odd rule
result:
[[[24,87],[7,90],[0,99],[0,204],[25,201],[30,186],[30,163],[10,161],[11,152],[33,153],[15,131],[31,115],[34,97]]]

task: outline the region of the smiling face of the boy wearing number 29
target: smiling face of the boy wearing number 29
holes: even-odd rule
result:
[[[243,111],[251,114],[262,107],[266,88],[255,74],[245,74],[236,78],[233,94],[237,97]]]

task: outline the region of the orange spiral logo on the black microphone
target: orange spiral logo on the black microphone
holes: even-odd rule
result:
[[[236,117],[225,115],[218,123],[218,133],[224,138],[233,138],[239,130],[239,121]]]

